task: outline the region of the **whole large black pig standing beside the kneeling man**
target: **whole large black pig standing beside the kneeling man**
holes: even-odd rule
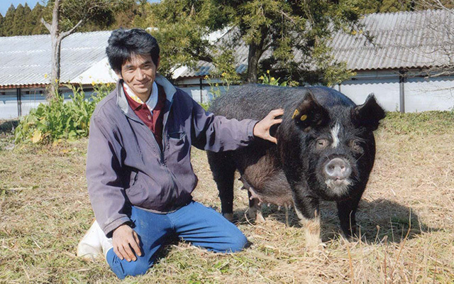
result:
[[[306,246],[320,238],[319,200],[335,201],[345,236],[355,234],[355,212],[375,160],[375,138],[384,110],[371,94],[357,106],[328,87],[272,87],[250,84],[214,100],[209,111],[230,119],[260,120],[284,109],[275,129],[277,145],[256,138],[237,151],[208,152],[222,213],[233,217],[236,170],[248,189],[250,213],[260,203],[293,205],[306,230]]]

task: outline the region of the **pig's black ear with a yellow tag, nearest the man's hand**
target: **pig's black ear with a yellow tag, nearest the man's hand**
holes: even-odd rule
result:
[[[292,119],[303,131],[321,127],[329,119],[328,111],[322,107],[310,91],[306,93],[303,101],[294,110]]]

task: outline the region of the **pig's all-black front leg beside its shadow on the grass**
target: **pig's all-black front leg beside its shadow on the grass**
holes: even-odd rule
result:
[[[350,200],[343,200],[337,202],[338,217],[341,222],[341,229],[347,239],[356,234],[356,209],[360,202],[361,195],[352,197]]]

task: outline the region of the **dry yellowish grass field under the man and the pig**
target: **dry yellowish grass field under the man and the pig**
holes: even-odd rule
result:
[[[84,164],[87,140],[13,148],[0,121],[0,283],[119,283],[104,259],[76,258],[92,224]],[[376,132],[377,160],[360,203],[362,238],[339,236],[336,207],[323,203],[323,251],[304,247],[294,212],[264,207],[265,224],[244,217],[253,245],[233,255],[188,244],[166,248],[146,275],[124,283],[453,283],[454,113],[389,114]],[[194,199],[220,207],[206,155],[194,149]]]

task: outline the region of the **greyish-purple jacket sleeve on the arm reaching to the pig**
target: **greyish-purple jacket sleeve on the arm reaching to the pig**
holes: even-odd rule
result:
[[[207,151],[221,152],[248,146],[254,138],[252,119],[226,119],[206,112],[192,99],[192,145]]]

